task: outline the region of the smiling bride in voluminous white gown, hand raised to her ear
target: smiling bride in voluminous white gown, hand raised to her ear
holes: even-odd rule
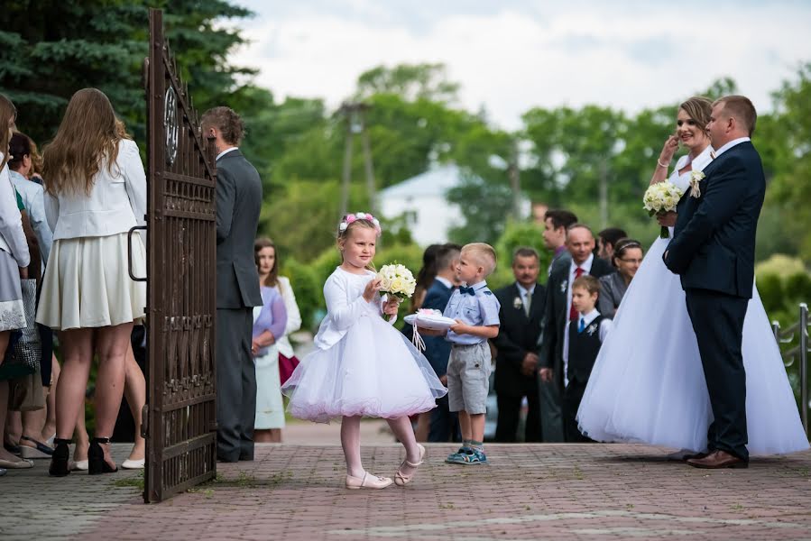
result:
[[[679,106],[676,135],[668,137],[651,183],[666,179],[668,162],[682,142],[689,152],[677,161],[668,180],[687,191],[691,171],[703,170],[712,160],[705,134],[710,110],[704,98]],[[613,331],[594,363],[577,421],[580,430],[597,441],[702,452],[713,412],[685,293],[679,277],[661,259],[669,242],[657,238],[631,280]],[[779,347],[754,285],[742,353],[750,453],[807,449]]]

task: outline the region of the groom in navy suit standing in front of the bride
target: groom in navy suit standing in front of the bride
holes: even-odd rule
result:
[[[706,128],[714,160],[679,201],[674,237],[663,255],[668,269],[681,276],[713,408],[708,454],[687,460],[696,468],[749,464],[741,344],[766,193],[760,155],[750,141],[756,119],[744,96],[713,104]]]

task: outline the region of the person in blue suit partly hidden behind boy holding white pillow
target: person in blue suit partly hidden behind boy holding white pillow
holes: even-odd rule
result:
[[[443,244],[437,253],[437,277],[425,294],[422,301],[423,308],[445,311],[447,301],[450,300],[454,288],[459,285],[456,275],[456,263],[462,247],[458,244]],[[439,381],[447,386],[447,359],[450,356],[450,342],[445,336],[424,336],[425,357],[431,368],[437,372]],[[437,400],[437,407],[423,414],[430,416],[428,441],[431,443],[447,442],[459,439],[459,421],[456,413],[448,408],[447,395]]]

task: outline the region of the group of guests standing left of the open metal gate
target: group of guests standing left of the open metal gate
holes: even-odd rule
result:
[[[109,444],[124,396],[134,446],[122,466],[143,468],[146,385],[135,361],[143,329],[134,326],[146,298],[143,283],[129,279],[126,238],[146,212],[138,148],[93,88],[72,96],[42,155],[17,130],[18,119],[35,121],[0,96],[0,474],[37,459],[51,459],[55,476],[115,472]],[[143,275],[140,237],[131,255]],[[90,438],[85,397],[94,357]]]

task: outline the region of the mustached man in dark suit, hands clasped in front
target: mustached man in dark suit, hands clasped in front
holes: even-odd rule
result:
[[[516,441],[524,397],[529,406],[524,441],[541,441],[536,351],[545,292],[538,283],[539,271],[538,252],[533,248],[519,248],[512,255],[515,282],[495,292],[501,304],[501,326],[498,336],[493,338],[498,352],[495,358],[495,393],[499,407],[495,428],[497,442]]]

